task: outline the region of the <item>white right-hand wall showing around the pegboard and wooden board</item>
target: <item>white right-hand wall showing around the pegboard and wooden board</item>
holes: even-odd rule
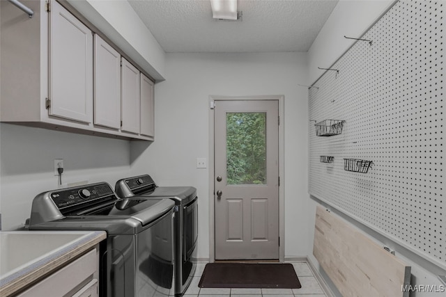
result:
[[[309,49],[309,83],[314,83],[314,81],[316,81],[316,79],[321,77],[323,74],[323,70],[318,70],[317,67],[330,67],[349,47],[351,47],[353,41],[345,39],[344,35],[359,38],[380,18],[381,15],[383,15],[383,13],[385,13],[392,6],[393,3],[394,1],[339,1],[337,6],[332,11],[329,19],[323,26],[323,29],[318,34],[318,37],[314,41],[312,47]],[[314,229],[313,226],[316,214],[316,202],[312,199],[308,200],[309,221],[307,222],[307,225]],[[367,227],[358,227],[364,230],[364,232],[369,236],[373,236],[375,241],[392,248],[393,244],[389,243],[383,236],[378,236],[378,234],[371,233]],[[309,260],[316,264],[316,268],[321,271],[321,268],[317,264],[316,258],[314,258],[312,255],[313,239],[314,230],[311,230],[309,232],[309,237],[307,238],[307,255]],[[436,277],[436,274],[440,273],[438,272],[440,270],[429,263],[425,263],[423,259],[415,259],[415,257],[407,257],[407,255],[408,254],[406,254],[405,251],[397,250],[397,256],[403,259],[403,261],[409,266],[412,266],[412,284],[433,284],[440,289],[441,283]],[[437,272],[433,273],[433,271]],[[326,278],[325,273],[323,273],[323,271],[321,272],[324,275],[324,278],[329,282],[329,285],[333,286],[330,280]],[[336,292],[335,289],[334,291]],[[339,292],[335,294],[340,296]],[[418,291],[411,293],[410,297],[434,297],[438,296],[438,294],[441,293]]]

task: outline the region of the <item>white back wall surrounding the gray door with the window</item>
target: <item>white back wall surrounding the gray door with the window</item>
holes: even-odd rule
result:
[[[198,257],[209,257],[209,95],[284,95],[285,257],[306,256],[307,55],[167,54],[166,81],[155,86],[155,142],[131,143],[132,175],[149,173],[162,186],[195,186],[199,195]]]

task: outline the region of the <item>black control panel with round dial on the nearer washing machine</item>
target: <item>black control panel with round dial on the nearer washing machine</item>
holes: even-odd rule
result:
[[[114,195],[114,192],[107,183],[67,188],[61,191],[53,191],[50,194],[52,200],[59,209],[72,207],[77,204],[84,204],[85,202],[98,200],[109,195]]]

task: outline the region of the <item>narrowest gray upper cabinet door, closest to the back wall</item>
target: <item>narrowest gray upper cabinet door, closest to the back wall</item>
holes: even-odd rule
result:
[[[141,73],[141,134],[155,135],[155,111],[153,101],[153,82]]]

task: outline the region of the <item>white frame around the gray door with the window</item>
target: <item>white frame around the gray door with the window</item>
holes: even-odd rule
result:
[[[209,182],[209,262],[215,262],[215,152],[214,152],[214,102],[218,101],[261,101],[277,100],[279,102],[279,262],[284,262],[285,253],[285,191],[284,191],[284,95],[259,95],[259,96],[220,96],[210,95],[209,106],[209,162],[208,162],[208,182]]]

